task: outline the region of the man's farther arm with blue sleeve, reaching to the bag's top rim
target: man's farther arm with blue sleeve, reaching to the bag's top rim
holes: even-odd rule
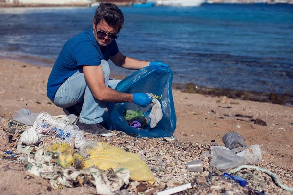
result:
[[[138,70],[149,66],[149,61],[141,61],[124,56],[120,51],[115,56],[111,56],[110,59],[116,66],[130,70]]]

